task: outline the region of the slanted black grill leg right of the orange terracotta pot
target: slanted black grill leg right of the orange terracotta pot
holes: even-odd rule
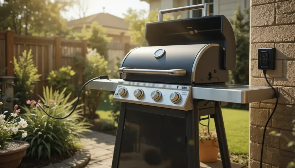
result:
[[[228,146],[227,146],[227,140],[226,140],[220,102],[215,102],[214,122],[216,127],[222,167],[231,168],[230,153],[228,151]]]

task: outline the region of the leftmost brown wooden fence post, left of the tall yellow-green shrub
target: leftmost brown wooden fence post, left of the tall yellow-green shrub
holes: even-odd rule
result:
[[[14,65],[13,65],[13,30],[6,30],[6,40],[5,40],[5,48],[6,48],[6,76],[14,76]]]

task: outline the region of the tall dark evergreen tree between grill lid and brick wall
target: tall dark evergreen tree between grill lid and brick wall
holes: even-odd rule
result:
[[[231,84],[249,83],[249,38],[250,21],[249,10],[241,11],[240,6],[230,19],[236,39],[236,68],[230,71]]]

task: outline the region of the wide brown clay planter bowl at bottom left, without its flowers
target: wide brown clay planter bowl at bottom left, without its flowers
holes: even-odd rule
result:
[[[30,144],[24,141],[14,142],[19,142],[22,145],[13,149],[0,151],[0,168],[16,168],[30,147]]]

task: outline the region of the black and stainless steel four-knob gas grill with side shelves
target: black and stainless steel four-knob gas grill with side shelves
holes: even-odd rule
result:
[[[164,13],[201,8],[204,17],[162,21]],[[208,115],[230,168],[221,107],[275,98],[271,87],[226,84],[236,60],[230,22],[209,16],[208,4],[161,10],[146,40],[124,57],[120,79],[89,83],[122,102],[112,168],[199,168],[199,121]]]

